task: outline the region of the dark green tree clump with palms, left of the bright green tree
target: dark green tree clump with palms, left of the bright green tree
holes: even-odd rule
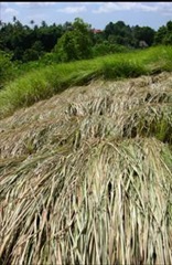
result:
[[[0,47],[4,51],[12,51],[13,61],[28,62],[37,60],[42,52],[50,52],[54,47],[63,32],[61,24],[47,26],[46,23],[42,23],[41,26],[34,25],[34,28],[30,28],[14,20],[13,23],[2,23]]]

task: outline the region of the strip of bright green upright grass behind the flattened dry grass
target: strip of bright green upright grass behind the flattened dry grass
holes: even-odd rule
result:
[[[172,46],[157,46],[94,60],[43,66],[25,73],[0,92],[0,118],[93,80],[119,80],[172,70]]]

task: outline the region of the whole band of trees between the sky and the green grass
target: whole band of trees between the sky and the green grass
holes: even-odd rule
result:
[[[42,21],[40,26],[33,20],[23,25],[15,17],[12,22],[0,22],[1,54],[22,63],[40,59],[68,62],[158,44],[172,44],[172,21],[158,31],[123,21],[109,22],[96,31],[79,18],[64,24]]]

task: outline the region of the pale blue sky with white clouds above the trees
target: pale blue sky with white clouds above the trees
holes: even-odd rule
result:
[[[148,25],[158,30],[172,20],[172,2],[0,2],[0,20],[12,22],[13,15],[23,24],[45,21],[63,24],[82,18],[96,29],[105,29],[111,21]]]

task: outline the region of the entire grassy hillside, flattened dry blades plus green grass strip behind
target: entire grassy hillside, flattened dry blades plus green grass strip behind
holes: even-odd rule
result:
[[[121,65],[170,70],[170,53],[29,73],[1,92],[1,117]],[[0,226],[3,265],[172,264],[172,74],[101,78],[1,119]]]

